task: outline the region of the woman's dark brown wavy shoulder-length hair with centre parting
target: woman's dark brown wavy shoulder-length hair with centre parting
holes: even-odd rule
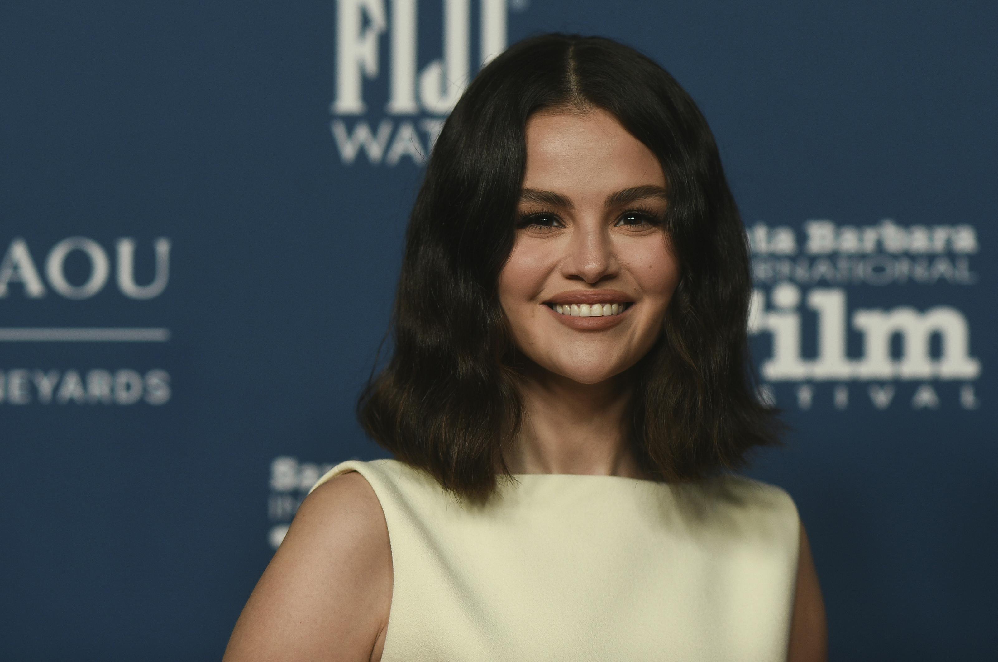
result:
[[[681,276],[655,346],[628,372],[626,434],[654,480],[691,482],[778,446],[749,360],[751,281],[742,219],[714,136],[679,83],[602,37],[511,46],[468,86],[433,148],[406,232],[393,354],[360,394],[364,431],[447,491],[487,499],[522,416],[517,348],[497,292],[512,250],[527,119],[603,109],[658,157]]]

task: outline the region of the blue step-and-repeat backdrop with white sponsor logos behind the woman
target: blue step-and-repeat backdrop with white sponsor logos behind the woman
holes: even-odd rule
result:
[[[0,657],[218,659],[354,418],[467,80],[538,32],[669,69],[717,136],[833,659],[990,659],[994,28],[980,3],[0,9]]]

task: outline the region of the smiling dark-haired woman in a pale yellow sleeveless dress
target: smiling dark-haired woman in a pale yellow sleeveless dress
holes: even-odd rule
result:
[[[607,39],[512,46],[410,219],[358,408],[396,460],[313,488],[226,660],[825,659],[793,501],[730,471],[778,444],[749,293],[676,81]]]

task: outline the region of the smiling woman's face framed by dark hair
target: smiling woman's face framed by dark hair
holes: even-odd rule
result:
[[[535,114],[526,141],[521,220],[499,299],[528,358],[597,384],[652,348],[679,282],[661,223],[665,173],[603,110]]]

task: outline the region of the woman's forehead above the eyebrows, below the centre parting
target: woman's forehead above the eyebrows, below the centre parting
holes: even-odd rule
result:
[[[536,113],[526,126],[525,188],[602,201],[612,190],[666,185],[655,154],[602,109]]]

